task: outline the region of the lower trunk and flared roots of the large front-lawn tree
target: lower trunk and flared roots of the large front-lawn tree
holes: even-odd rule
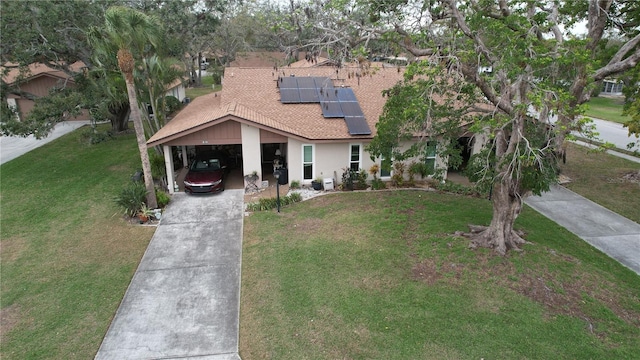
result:
[[[508,181],[508,180],[505,180]],[[499,182],[492,193],[493,217],[486,226],[469,225],[470,233],[464,234],[471,239],[470,247],[485,247],[505,255],[508,250],[520,250],[526,241],[522,233],[513,230],[513,224],[522,209],[522,200],[510,191],[509,184]]]

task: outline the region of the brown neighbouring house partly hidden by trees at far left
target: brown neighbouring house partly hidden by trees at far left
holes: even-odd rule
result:
[[[81,71],[84,64],[76,62],[70,66],[74,71]],[[72,77],[60,70],[54,70],[44,64],[34,63],[29,65],[29,73],[20,79],[20,70],[18,68],[11,69],[3,79],[7,84],[13,84],[20,81],[18,88],[24,92],[35,95],[36,97],[47,96],[49,90],[54,87],[75,87],[75,81]],[[33,109],[35,102],[24,97],[9,94],[7,103],[10,107],[18,110],[20,119],[24,119]],[[69,120],[89,120],[89,112],[83,111],[80,115]]]

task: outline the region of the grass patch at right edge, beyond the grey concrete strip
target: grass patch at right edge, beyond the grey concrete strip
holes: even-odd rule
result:
[[[571,178],[568,189],[640,223],[640,186],[623,178],[638,172],[640,164],[571,144],[561,170]]]

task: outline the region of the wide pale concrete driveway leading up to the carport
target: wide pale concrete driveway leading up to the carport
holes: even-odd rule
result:
[[[173,196],[96,359],[240,359],[243,195]]]

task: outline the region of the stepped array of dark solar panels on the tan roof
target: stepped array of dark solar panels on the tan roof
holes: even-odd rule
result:
[[[336,88],[327,77],[281,77],[278,79],[283,104],[320,103],[325,118],[344,118],[350,135],[370,135],[356,94],[351,88]]]

